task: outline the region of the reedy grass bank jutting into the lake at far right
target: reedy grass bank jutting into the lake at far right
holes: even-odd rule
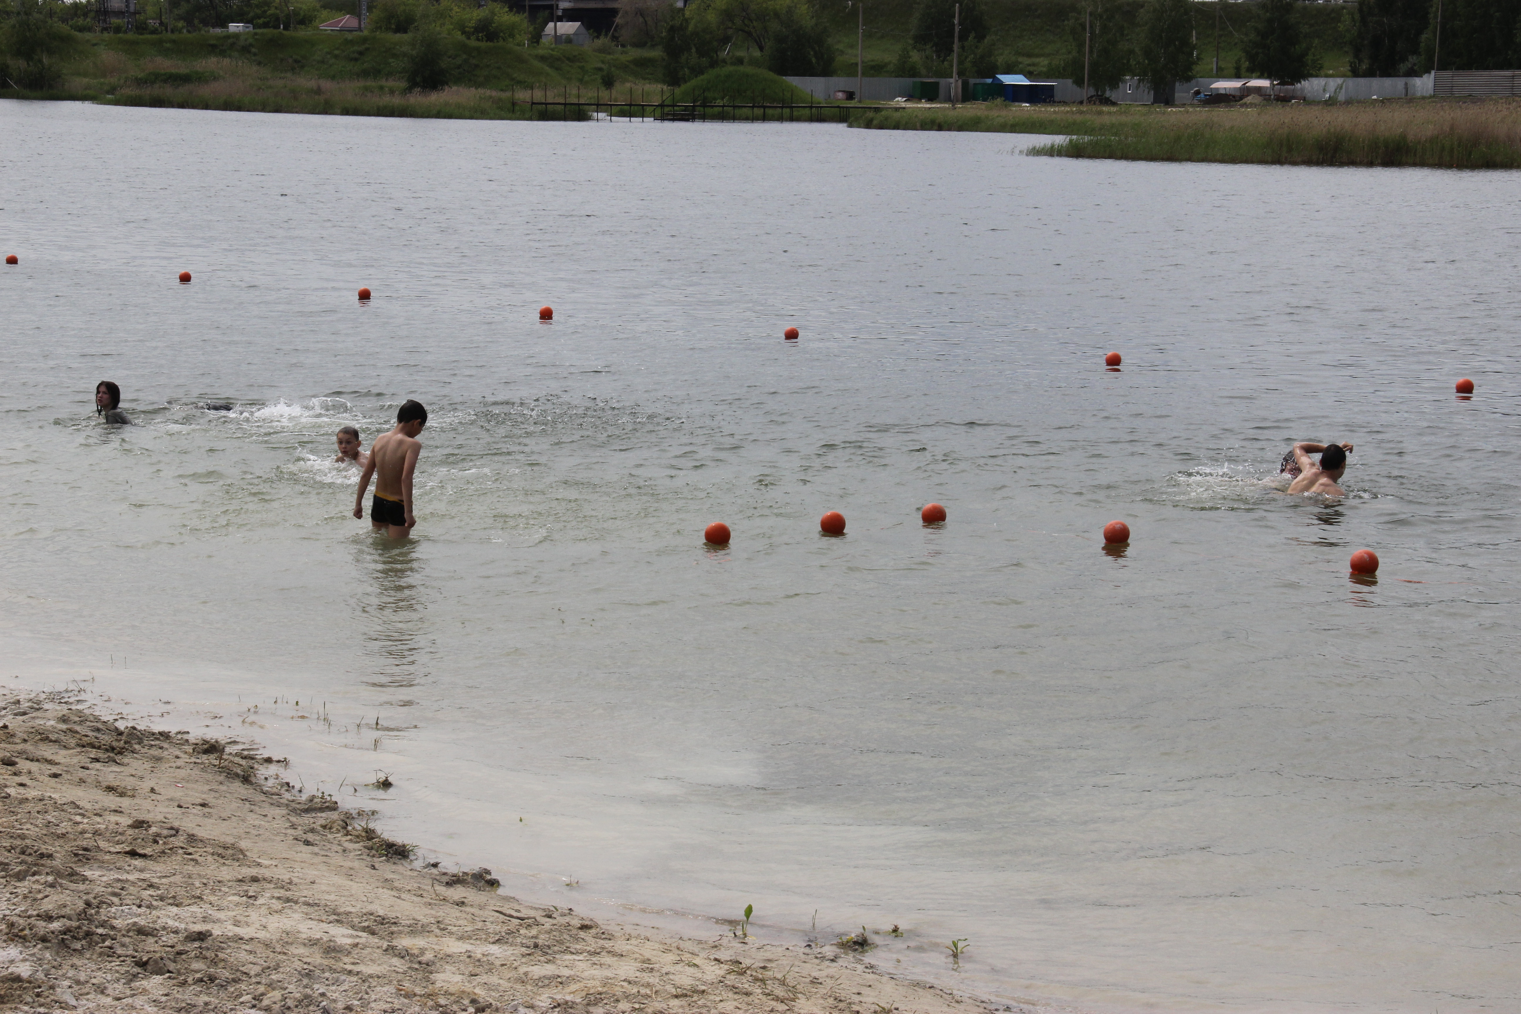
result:
[[[1062,134],[1031,155],[1269,166],[1521,167],[1521,100],[1174,108],[878,109],[852,126]]]

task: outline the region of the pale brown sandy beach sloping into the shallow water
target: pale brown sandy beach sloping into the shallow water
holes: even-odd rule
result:
[[[251,749],[0,707],[0,1009],[797,1011],[989,1008],[840,946],[657,940],[411,859]]]

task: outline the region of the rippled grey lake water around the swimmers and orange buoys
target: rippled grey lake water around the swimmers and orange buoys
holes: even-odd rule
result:
[[[1513,173],[20,102],[0,138],[11,686],[240,730],[514,892],[896,923],[875,959],[986,996],[1521,1008]],[[386,544],[333,433],[408,397]],[[1345,502],[1264,482],[1296,439],[1355,442]]]

